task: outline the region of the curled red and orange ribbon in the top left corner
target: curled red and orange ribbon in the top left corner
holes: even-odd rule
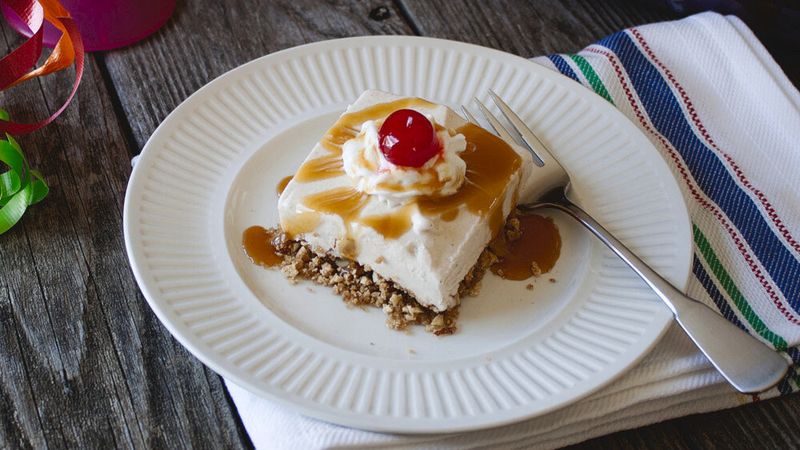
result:
[[[5,3],[33,32],[33,35],[14,51],[0,60],[0,90],[25,80],[66,69],[75,63],[75,82],[72,92],[61,107],[50,117],[36,123],[17,123],[0,120],[0,132],[13,135],[30,133],[55,120],[66,109],[83,76],[83,42],[78,27],[58,0],[0,0]],[[44,21],[61,30],[61,38],[53,52],[40,67],[31,70],[42,54]]]

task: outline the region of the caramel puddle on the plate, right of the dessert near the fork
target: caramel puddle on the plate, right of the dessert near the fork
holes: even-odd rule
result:
[[[549,272],[561,254],[561,235],[553,219],[535,214],[517,218],[522,233],[519,239],[509,243],[505,233],[500,233],[490,244],[499,257],[491,270],[506,280],[526,280]]]

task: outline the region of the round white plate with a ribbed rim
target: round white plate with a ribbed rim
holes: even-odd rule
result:
[[[419,37],[296,47],[219,77],[153,133],[125,199],[125,242],[144,296],[224,377],[302,414],[403,433],[472,430],[542,414],[620,375],[668,310],[608,250],[554,214],[553,272],[488,276],[460,328],[437,338],[384,326],[328,289],[253,266],[242,231],[277,223],[275,186],[363,90],[458,106],[496,90],[572,173],[581,203],[678,286],[690,228],[669,169],[609,103],[522,58]],[[554,278],[555,283],[548,278]]]

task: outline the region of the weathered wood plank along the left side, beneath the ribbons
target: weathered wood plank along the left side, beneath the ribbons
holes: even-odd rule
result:
[[[58,105],[42,92],[70,82],[27,83],[3,106],[44,117]],[[220,379],[172,340],[128,268],[121,214],[134,147],[94,59],[67,112],[20,141],[51,194],[0,237],[0,447],[247,446]]]

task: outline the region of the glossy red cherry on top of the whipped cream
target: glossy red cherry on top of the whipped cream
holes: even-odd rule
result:
[[[398,166],[422,167],[439,154],[433,124],[413,109],[389,114],[378,132],[378,142],[386,159]]]

